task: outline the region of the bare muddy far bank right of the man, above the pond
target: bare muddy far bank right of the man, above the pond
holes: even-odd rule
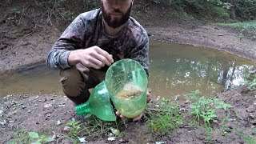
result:
[[[153,35],[151,39],[226,50],[230,53],[256,61],[256,41],[250,37],[240,39],[238,37],[238,31],[230,30],[229,28],[214,24],[202,26],[194,24],[191,27],[149,26],[147,30]]]

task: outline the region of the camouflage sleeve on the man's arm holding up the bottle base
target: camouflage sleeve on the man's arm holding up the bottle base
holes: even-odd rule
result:
[[[139,38],[138,41],[138,46],[132,50],[130,58],[139,62],[146,71],[147,76],[149,76],[149,37],[146,30],[142,32],[141,38]]]

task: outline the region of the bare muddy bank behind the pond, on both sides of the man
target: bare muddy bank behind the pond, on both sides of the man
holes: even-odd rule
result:
[[[175,25],[178,26],[175,26],[171,21],[151,23],[142,20],[142,25],[150,34],[151,40],[206,46],[226,50],[256,61],[256,41],[252,40],[250,36],[240,39],[238,30],[200,22],[176,23]],[[4,30],[1,28],[0,34],[3,34],[3,38],[0,50],[0,74],[37,62],[45,62],[46,54],[65,27],[58,27],[58,29],[50,27],[28,34],[26,30],[14,28],[7,34],[1,31]],[[10,28],[7,26],[6,29]],[[24,34],[22,38],[20,38],[20,33]]]

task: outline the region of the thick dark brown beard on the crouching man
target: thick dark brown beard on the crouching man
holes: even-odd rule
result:
[[[114,29],[125,24],[128,21],[128,19],[130,18],[131,7],[132,7],[132,4],[130,4],[130,7],[127,10],[126,14],[123,14],[120,10],[115,9],[113,12],[114,13],[122,13],[122,17],[121,18],[111,18],[110,14],[108,14],[106,12],[105,7],[102,4],[102,15],[103,15],[103,18],[104,18],[106,24]]]

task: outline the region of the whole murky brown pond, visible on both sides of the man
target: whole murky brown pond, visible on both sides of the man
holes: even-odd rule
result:
[[[210,95],[244,84],[245,72],[256,63],[221,50],[150,43],[149,86],[154,97],[177,97],[191,90]],[[61,93],[58,70],[44,64],[0,76],[0,96]]]

